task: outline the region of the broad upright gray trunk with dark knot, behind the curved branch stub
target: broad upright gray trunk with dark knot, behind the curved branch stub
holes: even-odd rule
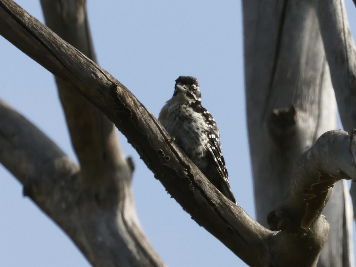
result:
[[[281,203],[297,158],[321,133],[335,129],[336,104],[316,14],[316,1],[244,3],[246,105],[257,219]],[[324,2],[323,2],[324,3]],[[324,214],[330,234],[320,264],[348,266],[351,229],[342,218],[350,208],[344,185]],[[346,199],[346,200],[345,200]],[[332,207],[339,207],[337,209]],[[340,208],[340,207],[343,208]],[[334,246],[341,247],[335,255]],[[345,246],[343,246],[345,245]],[[347,253],[346,253],[347,254]],[[331,259],[332,257],[332,259]],[[335,265],[333,265],[334,262]]]

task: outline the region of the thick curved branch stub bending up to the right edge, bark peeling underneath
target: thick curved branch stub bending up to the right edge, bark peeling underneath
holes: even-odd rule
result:
[[[307,233],[321,215],[334,183],[356,180],[355,135],[332,130],[319,137],[294,166],[290,188],[282,205],[268,214],[272,230]]]

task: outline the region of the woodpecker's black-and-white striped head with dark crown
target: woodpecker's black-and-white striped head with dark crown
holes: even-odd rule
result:
[[[198,79],[192,76],[179,76],[174,86],[173,97],[190,104],[200,103],[201,95]]]

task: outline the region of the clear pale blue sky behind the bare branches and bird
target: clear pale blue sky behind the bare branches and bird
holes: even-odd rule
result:
[[[39,1],[16,1],[41,22]],[[231,188],[255,217],[244,104],[241,3],[229,1],[93,1],[88,13],[101,67],[158,116],[179,75],[199,79],[203,105],[215,117]],[[356,10],[347,1],[356,36]],[[351,12],[352,11],[352,12]],[[52,74],[0,37],[0,97],[75,159]],[[4,67],[6,66],[6,67]],[[140,223],[168,266],[246,266],[199,227],[134,158],[133,192]],[[75,159],[76,160],[76,159]],[[11,267],[89,266],[67,236],[0,166],[0,262]]]

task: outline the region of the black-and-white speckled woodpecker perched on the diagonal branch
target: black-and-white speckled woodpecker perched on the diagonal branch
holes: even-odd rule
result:
[[[179,76],[174,93],[158,121],[209,181],[236,203],[220,147],[220,132],[213,116],[201,106],[198,79]]]

